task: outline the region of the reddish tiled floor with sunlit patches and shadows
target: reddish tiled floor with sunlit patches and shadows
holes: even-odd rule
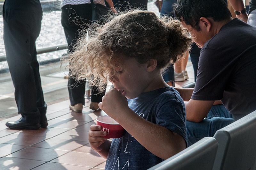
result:
[[[176,82],[177,87],[194,82],[193,68],[187,67],[188,80]],[[0,121],[0,170],[99,170],[105,159],[90,148],[88,131],[103,111],[89,109],[86,99],[82,113],[69,110],[69,100],[48,104],[48,127],[39,130],[11,130],[7,121]]]

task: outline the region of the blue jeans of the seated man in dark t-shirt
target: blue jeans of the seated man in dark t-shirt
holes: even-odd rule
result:
[[[235,119],[222,104],[213,105],[203,121],[199,123],[187,121],[188,146],[204,137],[213,137],[217,130],[233,122]]]

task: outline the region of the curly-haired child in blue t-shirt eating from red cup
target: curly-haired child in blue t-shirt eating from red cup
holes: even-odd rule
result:
[[[117,14],[94,30],[69,62],[74,77],[99,88],[107,78],[114,85],[99,107],[125,129],[123,137],[111,142],[100,125],[89,131],[91,148],[107,159],[105,169],[148,169],[185,149],[185,105],[162,70],[188,51],[188,31],[178,20],[141,10]]]

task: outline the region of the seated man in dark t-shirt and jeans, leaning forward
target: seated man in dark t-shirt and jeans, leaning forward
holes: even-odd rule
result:
[[[191,145],[256,110],[256,28],[232,19],[223,0],[178,0],[174,13],[202,48],[195,88],[176,88]],[[221,103],[230,114],[208,114]]]

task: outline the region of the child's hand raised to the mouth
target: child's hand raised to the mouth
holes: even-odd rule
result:
[[[116,116],[121,116],[120,113],[124,112],[125,109],[130,109],[126,97],[122,95],[122,91],[117,91],[114,87],[110,88],[105,96],[103,96],[99,107],[113,119]]]

